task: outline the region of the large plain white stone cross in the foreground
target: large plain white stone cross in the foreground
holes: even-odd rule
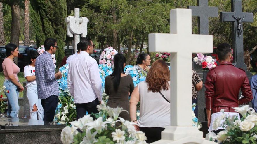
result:
[[[159,143],[213,143],[192,126],[192,53],[212,53],[212,35],[192,34],[191,9],[170,10],[170,34],[149,34],[149,51],[171,53],[171,126]]]

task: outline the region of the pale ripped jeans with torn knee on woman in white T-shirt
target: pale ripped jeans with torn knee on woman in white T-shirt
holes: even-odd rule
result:
[[[33,120],[43,120],[44,109],[41,100],[37,97],[37,84],[30,84],[27,87],[27,97],[29,99],[30,118]],[[36,104],[37,111],[33,111],[33,105]]]

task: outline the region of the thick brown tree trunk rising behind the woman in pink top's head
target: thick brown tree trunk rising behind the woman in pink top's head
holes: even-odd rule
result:
[[[11,40],[10,43],[19,47],[20,38],[20,6],[18,3],[11,5],[12,10],[12,27],[11,27]],[[14,62],[18,64],[18,57],[15,57]]]

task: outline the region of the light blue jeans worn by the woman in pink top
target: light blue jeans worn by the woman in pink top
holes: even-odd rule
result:
[[[19,104],[18,104],[18,98],[19,98],[19,89],[18,86],[13,84],[10,80],[4,80],[4,86],[6,87],[6,90],[9,90],[9,93],[4,92],[6,97],[8,98],[8,110],[7,110],[7,116],[11,117],[18,117],[19,112]]]

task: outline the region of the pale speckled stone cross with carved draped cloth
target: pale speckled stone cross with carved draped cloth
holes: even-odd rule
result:
[[[87,35],[87,24],[88,18],[86,17],[79,17],[79,8],[74,9],[74,17],[68,16],[65,19],[67,23],[67,35],[69,37],[73,37],[74,34],[74,41],[75,45],[73,47],[74,52],[77,52],[77,44],[79,43],[79,35],[85,38]]]

